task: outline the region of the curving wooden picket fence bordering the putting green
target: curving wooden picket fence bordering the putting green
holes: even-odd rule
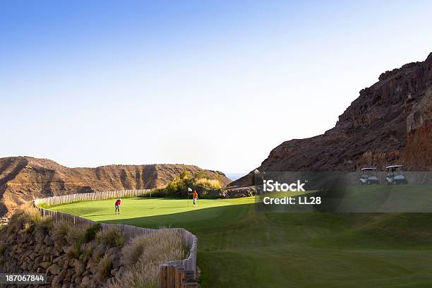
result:
[[[42,217],[51,217],[54,222],[67,222],[74,225],[91,225],[96,222],[85,219],[76,215],[70,215],[64,212],[53,211],[45,208],[40,208],[38,205],[45,203],[48,205],[56,205],[61,203],[71,203],[74,201],[87,200],[104,200],[110,198],[124,198],[128,196],[144,196],[150,193],[150,190],[126,190],[126,191],[107,191],[96,193],[78,193],[66,196],[53,196],[49,198],[35,199],[35,207],[40,211]],[[148,229],[136,227],[126,224],[107,224],[100,223],[102,229],[116,227],[124,233],[124,236],[131,239],[136,236],[143,236],[163,229]],[[170,261],[160,265],[160,288],[196,288],[196,255],[198,248],[198,238],[191,232],[183,228],[167,228],[170,231],[175,231],[181,234],[184,243],[188,247],[188,258],[184,260]]]

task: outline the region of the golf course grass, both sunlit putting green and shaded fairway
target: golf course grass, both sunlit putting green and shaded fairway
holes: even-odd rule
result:
[[[432,287],[429,213],[256,212],[254,198],[125,198],[50,209],[198,236],[203,288]]]

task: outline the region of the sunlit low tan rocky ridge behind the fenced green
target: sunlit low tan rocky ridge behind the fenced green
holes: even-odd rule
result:
[[[52,160],[33,157],[0,158],[0,215],[34,198],[71,193],[161,188],[181,172],[205,172],[226,186],[222,172],[184,164],[107,165],[68,168]]]

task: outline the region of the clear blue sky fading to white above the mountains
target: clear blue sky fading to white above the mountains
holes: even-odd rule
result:
[[[0,157],[248,172],[431,31],[431,1],[0,1]]]

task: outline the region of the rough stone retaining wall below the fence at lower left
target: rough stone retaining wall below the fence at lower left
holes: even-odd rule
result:
[[[2,234],[0,271],[47,273],[46,287],[103,287],[125,269],[121,247],[92,240],[77,251],[49,227]]]

